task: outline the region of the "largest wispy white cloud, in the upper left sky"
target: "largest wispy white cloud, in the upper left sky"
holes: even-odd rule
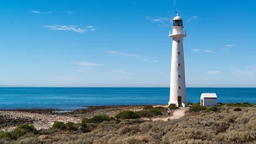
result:
[[[90,27],[90,29],[93,28],[92,26],[87,26],[87,27]],[[49,30],[63,30],[63,31],[69,30],[69,31],[75,31],[77,33],[84,33],[84,31],[87,30],[87,27],[79,28],[78,26],[73,26],[73,25],[70,25],[70,26],[49,25],[49,26],[45,26],[44,28],[48,28]]]

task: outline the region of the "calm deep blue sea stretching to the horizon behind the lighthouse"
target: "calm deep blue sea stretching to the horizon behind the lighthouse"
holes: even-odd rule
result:
[[[187,88],[187,101],[198,102],[202,92],[215,92],[218,102],[256,103],[256,88]],[[77,109],[82,106],[162,105],[167,87],[0,87],[0,109]]]

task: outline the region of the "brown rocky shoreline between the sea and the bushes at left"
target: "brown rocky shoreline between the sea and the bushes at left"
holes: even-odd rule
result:
[[[49,129],[56,121],[78,123],[85,117],[101,114],[114,117],[119,111],[139,111],[142,110],[143,106],[91,106],[68,113],[53,113],[53,111],[60,111],[60,109],[0,110],[0,130],[13,130],[22,123],[33,124],[38,130]]]

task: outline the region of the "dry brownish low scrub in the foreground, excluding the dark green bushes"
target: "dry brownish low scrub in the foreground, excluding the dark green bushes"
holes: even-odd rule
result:
[[[221,107],[217,113],[187,113],[167,122],[142,119],[102,122],[88,133],[57,131],[6,143],[256,143],[256,107],[234,109]]]

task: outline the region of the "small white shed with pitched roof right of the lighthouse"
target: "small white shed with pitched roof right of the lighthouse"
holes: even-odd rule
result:
[[[216,93],[202,93],[201,106],[217,106]]]

